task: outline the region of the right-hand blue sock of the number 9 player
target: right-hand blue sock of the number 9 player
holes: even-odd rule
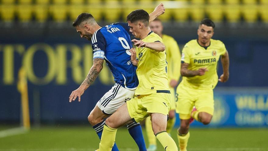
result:
[[[139,147],[139,151],[146,151],[145,141],[143,138],[143,133],[139,123],[131,123],[127,125],[129,134],[135,140],[136,144]]]

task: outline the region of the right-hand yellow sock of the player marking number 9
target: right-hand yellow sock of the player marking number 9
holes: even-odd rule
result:
[[[174,140],[168,135],[166,131],[161,131],[156,134],[156,138],[162,144],[165,151],[178,151],[178,147]]]

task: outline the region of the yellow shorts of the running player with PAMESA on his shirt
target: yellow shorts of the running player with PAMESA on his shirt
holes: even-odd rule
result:
[[[213,115],[213,89],[193,89],[179,85],[176,92],[176,112],[179,113],[180,119],[190,119],[193,106],[199,112]]]

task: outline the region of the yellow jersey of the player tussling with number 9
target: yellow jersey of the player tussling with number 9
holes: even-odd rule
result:
[[[152,31],[142,39],[144,42],[162,42],[163,40]],[[138,67],[136,70],[139,85],[135,95],[146,95],[170,91],[168,88],[168,70],[166,52],[140,47],[137,51]]]

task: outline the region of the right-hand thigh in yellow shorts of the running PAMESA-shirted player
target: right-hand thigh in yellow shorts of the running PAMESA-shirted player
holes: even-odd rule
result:
[[[199,112],[206,112],[213,115],[214,99],[213,90],[202,90],[199,92],[198,98],[195,102],[195,107]]]

